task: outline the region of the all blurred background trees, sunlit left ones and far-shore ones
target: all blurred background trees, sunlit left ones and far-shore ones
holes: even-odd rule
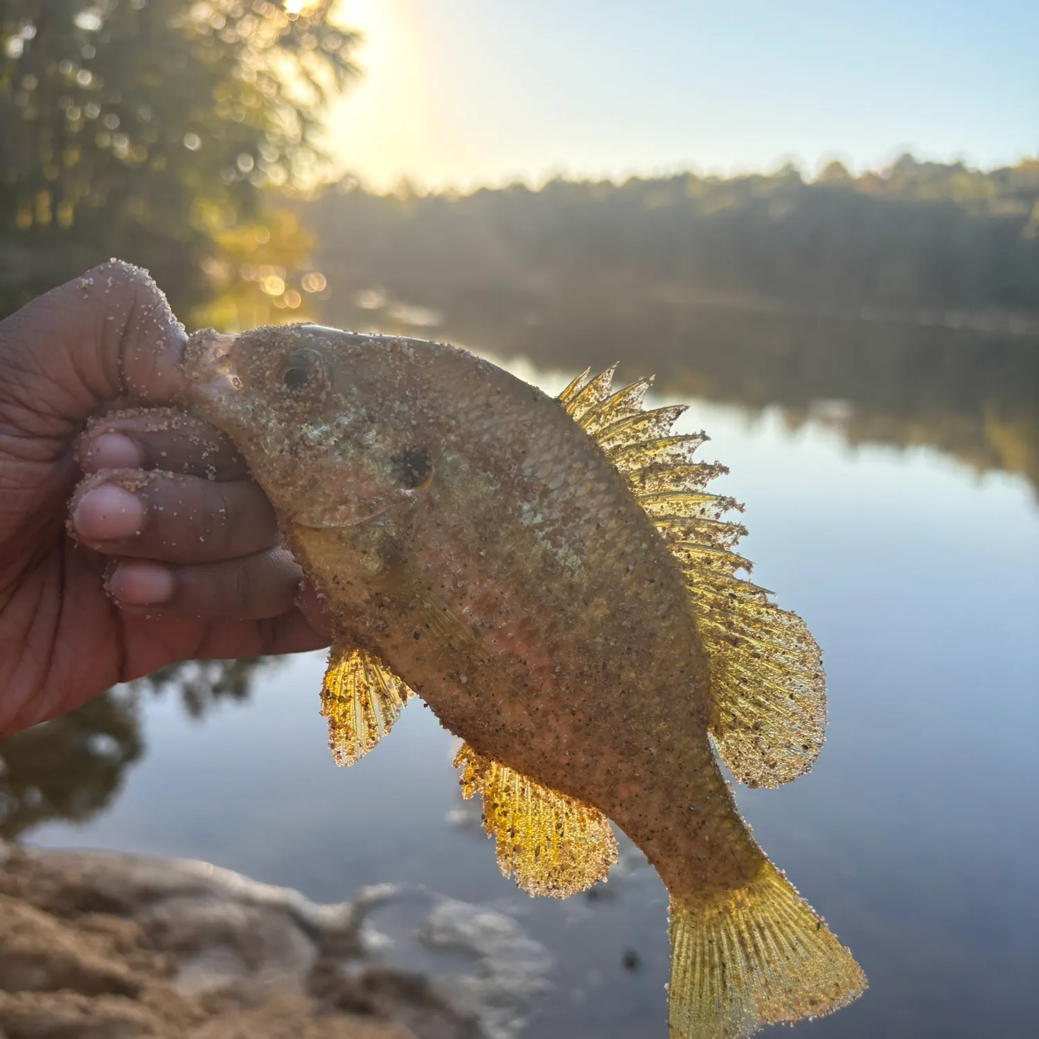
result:
[[[359,42],[332,6],[2,0],[0,313],[118,255],[224,327],[375,285],[1035,330],[1039,160],[372,193],[321,144]]]

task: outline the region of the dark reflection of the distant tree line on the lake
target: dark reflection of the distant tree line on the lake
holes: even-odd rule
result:
[[[589,296],[418,286],[435,329],[402,321],[384,291],[337,293],[323,320],[434,336],[499,357],[580,370],[620,362],[622,377],[657,374],[669,396],[760,410],[791,428],[823,421],[852,445],[933,447],[978,472],[1024,476],[1039,492],[1039,339],[869,316],[689,307],[605,286]],[[363,305],[358,305],[363,304]],[[406,315],[405,315],[406,316]]]

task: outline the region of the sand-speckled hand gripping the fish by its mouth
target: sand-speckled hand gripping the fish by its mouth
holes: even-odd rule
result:
[[[327,644],[232,445],[156,407],[184,343],[122,263],[0,322],[0,736],[176,661]]]

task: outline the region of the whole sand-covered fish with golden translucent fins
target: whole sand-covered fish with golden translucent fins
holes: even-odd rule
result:
[[[342,765],[420,697],[463,742],[506,876],[564,898],[616,858],[669,896],[671,1039],[836,1010],[864,975],[768,859],[721,771],[776,787],[822,747],[804,622],[742,577],[724,472],[644,408],[649,379],[558,396],[454,346],[313,324],[193,334],[189,410],[270,499],[332,631]]]

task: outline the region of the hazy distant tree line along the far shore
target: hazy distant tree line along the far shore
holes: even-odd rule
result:
[[[983,171],[906,155],[859,177],[831,163],[815,180],[785,167],[464,195],[347,181],[301,213],[337,282],[408,298],[508,286],[867,316],[1039,311],[1039,159]]]

